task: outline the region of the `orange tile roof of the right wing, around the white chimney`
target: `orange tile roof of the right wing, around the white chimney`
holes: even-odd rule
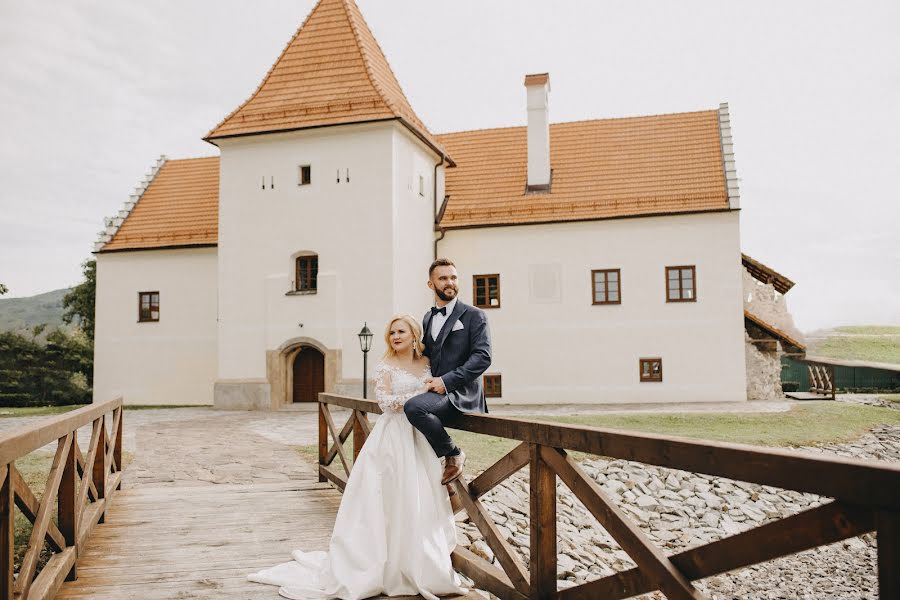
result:
[[[525,127],[438,139],[457,163],[446,229],[729,209],[716,110],[551,125],[544,193],[525,190]]]

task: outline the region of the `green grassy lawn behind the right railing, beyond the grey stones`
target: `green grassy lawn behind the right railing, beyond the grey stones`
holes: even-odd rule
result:
[[[900,401],[900,395],[895,396]],[[900,411],[843,402],[805,402],[782,413],[641,413],[525,418],[761,446],[845,442],[877,425],[900,425]],[[518,444],[515,440],[467,431],[452,431],[451,435],[466,451],[466,467],[470,473],[487,468]],[[312,463],[318,460],[316,445],[295,448],[306,460]],[[349,456],[349,440],[345,448]],[[583,455],[575,453],[574,457]],[[340,471],[338,461],[335,459],[333,464]]]

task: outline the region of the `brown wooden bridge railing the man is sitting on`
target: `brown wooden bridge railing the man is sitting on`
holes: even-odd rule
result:
[[[330,406],[353,412],[338,431]],[[319,395],[319,476],[338,488],[352,468],[342,447],[352,431],[358,454],[371,430],[375,402]],[[465,415],[454,429],[522,442],[472,481],[454,485],[462,509],[484,536],[502,570],[466,548],[452,558],[457,570],[504,600],[603,598],[662,591],[669,600],[704,598],[691,583],[756,563],[877,530],[882,598],[900,598],[900,466],[811,452],[758,448],[661,435],[577,427],[490,415]],[[340,440],[329,447],[332,440]],[[816,508],[709,544],[667,556],[587,475],[567,451],[579,451],[833,498]],[[340,456],[344,472],[331,467]],[[530,469],[529,569],[494,524],[479,498],[519,469]],[[594,515],[637,567],[557,591],[556,478]]]

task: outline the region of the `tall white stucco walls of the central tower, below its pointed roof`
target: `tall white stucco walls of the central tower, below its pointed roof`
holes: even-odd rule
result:
[[[265,378],[266,350],[298,337],[342,350],[341,378],[358,379],[363,323],[377,357],[390,315],[426,308],[435,162],[427,156],[395,122],[221,142],[220,380]],[[312,184],[298,186],[304,164]],[[298,251],[318,254],[316,294],[286,295]]]

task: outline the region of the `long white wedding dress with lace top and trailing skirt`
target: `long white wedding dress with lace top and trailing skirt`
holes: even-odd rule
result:
[[[403,413],[425,391],[428,368],[379,363],[375,399],[383,414],[347,480],[327,552],[295,550],[293,561],[248,576],[285,598],[465,594],[450,563],[456,527],[434,450]],[[302,524],[301,524],[302,526]]]

